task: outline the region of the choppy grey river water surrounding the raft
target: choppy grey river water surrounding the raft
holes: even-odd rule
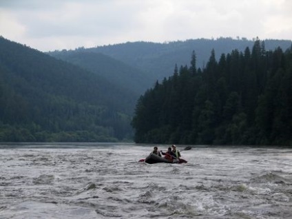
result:
[[[292,218],[292,149],[94,146],[0,145],[0,218]]]

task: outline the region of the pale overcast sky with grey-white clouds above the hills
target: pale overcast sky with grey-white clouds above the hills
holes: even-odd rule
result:
[[[292,39],[292,0],[0,0],[0,35],[43,52],[127,41]]]

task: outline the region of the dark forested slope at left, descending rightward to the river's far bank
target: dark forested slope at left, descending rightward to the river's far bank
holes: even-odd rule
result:
[[[137,94],[0,37],[0,141],[130,138]]]

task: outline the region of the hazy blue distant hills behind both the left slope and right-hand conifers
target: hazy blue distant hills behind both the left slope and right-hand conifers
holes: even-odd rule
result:
[[[247,39],[219,38],[190,39],[168,43],[134,42],[96,48],[78,48],[48,52],[51,56],[79,65],[86,70],[143,94],[154,83],[171,76],[174,65],[189,65],[193,50],[197,54],[198,67],[205,67],[210,51],[215,50],[216,59],[220,54],[237,49],[243,52],[251,48],[254,41]],[[282,48],[286,50],[292,41],[265,40],[266,50]]]

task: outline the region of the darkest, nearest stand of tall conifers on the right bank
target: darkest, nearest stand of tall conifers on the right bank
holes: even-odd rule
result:
[[[244,51],[189,67],[147,90],[136,103],[136,143],[292,145],[292,46]]]

